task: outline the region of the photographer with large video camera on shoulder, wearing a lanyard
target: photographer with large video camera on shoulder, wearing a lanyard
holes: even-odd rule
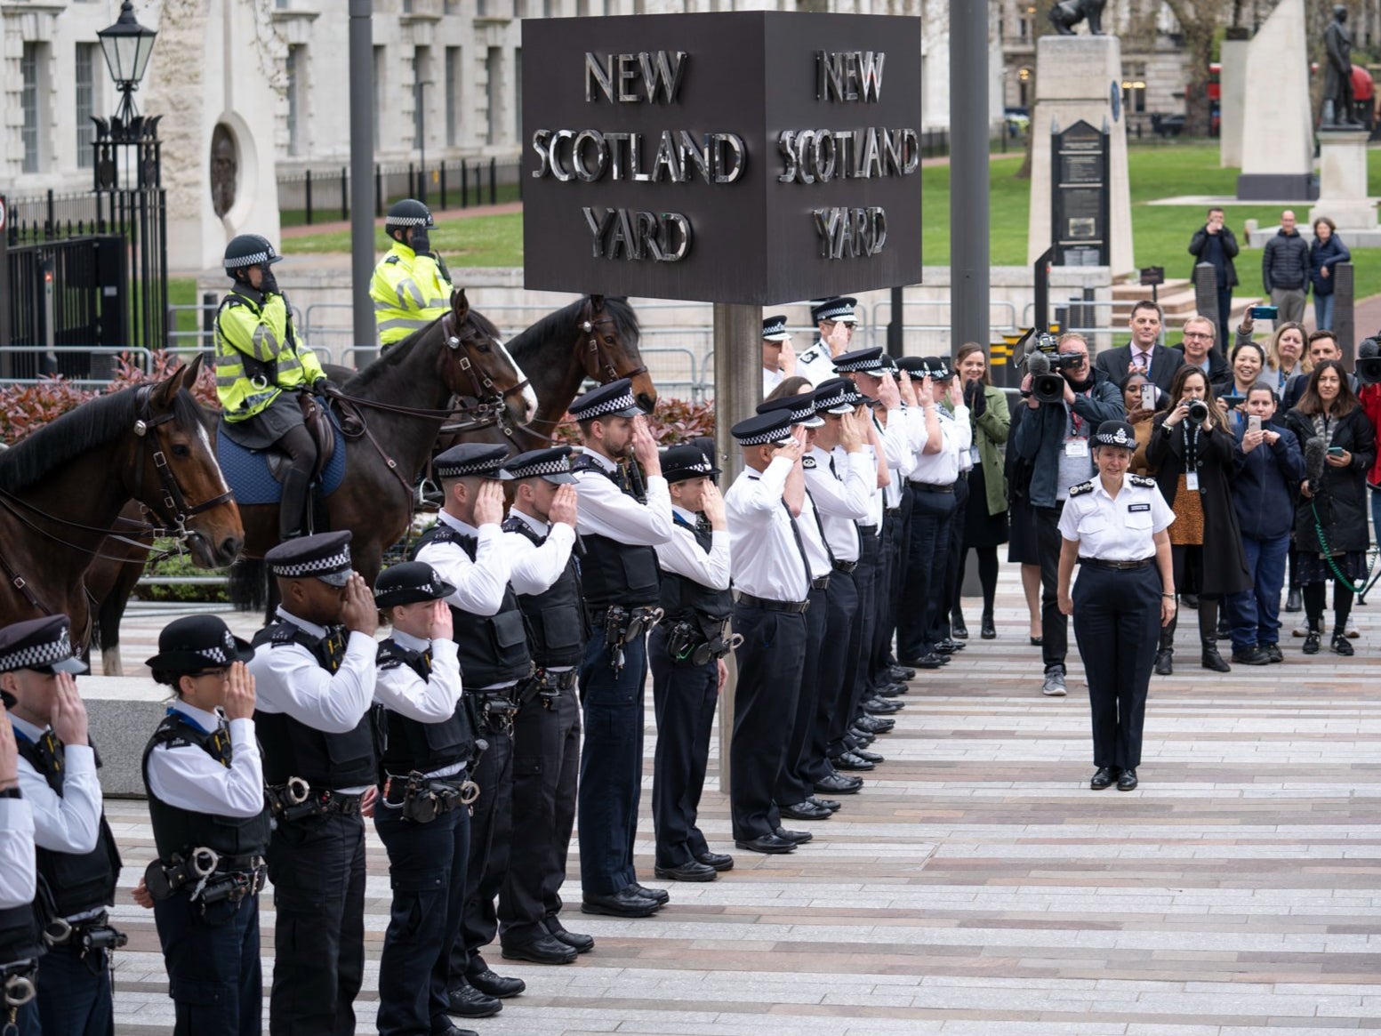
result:
[[[1121,390],[1090,366],[1088,343],[1081,334],[1068,332],[1058,343],[1050,341],[1048,334],[1041,338],[1026,356],[1021,391],[1029,410],[1016,424],[1012,442],[1032,464],[1029,499],[1036,512],[1045,667],[1041,693],[1061,696],[1066,693],[1069,619],[1059,611],[1059,515],[1069,488],[1088,481],[1094,472],[1090,435],[1103,421],[1124,420],[1127,412]]]

